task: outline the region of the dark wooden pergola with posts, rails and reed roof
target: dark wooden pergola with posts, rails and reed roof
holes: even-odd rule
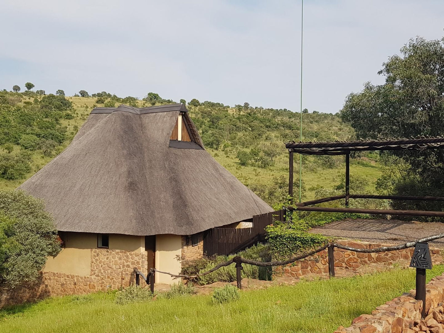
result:
[[[345,155],[345,193],[328,198],[298,202],[293,204],[297,210],[362,213],[362,214],[390,214],[413,216],[444,217],[444,211],[425,210],[381,210],[349,208],[349,198],[360,199],[390,199],[390,200],[419,200],[444,201],[444,197],[419,197],[404,195],[371,195],[350,194],[350,152],[351,151],[387,151],[387,150],[424,150],[444,148],[444,137],[424,137],[420,139],[386,139],[386,140],[359,140],[359,141],[333,141],[333,142],[287,142],[285,147],[289,151],[289,187],[288,193],[293,198],[293,154],[302,155]],[[312,205],[345,198],[345,208],[313,207]]]

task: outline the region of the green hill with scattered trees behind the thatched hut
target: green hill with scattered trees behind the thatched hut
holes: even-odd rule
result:
[[[62,152],[96,106],[176,103],[153,92],[143,99],[120,98],[106,91],[90,95],[85,90],[68,97],[61,89],[47,94],[41,89],[32,91],[32,83],[25,87],[23,92],[19,86],[0,91],[1,188],[16,188]],[[283,142],[299,138],[298,112],[252,107],[249,103],[230,107],[197,99],[179,102],[186,103],[206,149],[219,163],[266,202],[273,205],[285,201],[288,153]],[[338,115],[303,111],[306,141],[344,140],[352,135],[353,129]],[[367,154],[355,163],[355,172],[362,175],[360,181],[370,192],[379,175],[377,160],[378,156]],[[319,188],[340,186],[342,157],[304,156],[302,163],[305,198],[313,198]]]

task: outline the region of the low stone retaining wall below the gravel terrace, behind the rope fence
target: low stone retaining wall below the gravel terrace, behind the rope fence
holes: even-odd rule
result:
[[[340,240],[337,243],[353,247],[355,249],[374,249],[381,246],[392,246],[393,244],[357,242],[350,240]],[[440,264],[443,260],[439,249],[430,248],[432,262],[434,265]],[[349,250],[334,248],[334,267],[336,276],[350,276],[383,270],[393,264],[400,267],[408,267],[413,254],[413,248],[396,250],[381,253],[359,253]],[[329,276],[329,264],[327,250],[323,250],[304,260],[289,264],[283,270],[277,268],[277,275],[284,277],[305,277],[305,276]]]

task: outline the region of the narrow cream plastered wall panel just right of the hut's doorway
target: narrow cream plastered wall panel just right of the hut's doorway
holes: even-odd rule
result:
[[[180,262],[176,256],[182,255],[182,236],[180,235],[156,235],[156,269],[163,272],[178,274],[181,270]],[[167,274],[156,273],[156,283],[177,283]]]

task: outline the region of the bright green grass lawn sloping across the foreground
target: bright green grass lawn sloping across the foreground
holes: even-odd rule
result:
[[[435,266],[427,278],[443,272]],[[414,270],[396,269],[242,291],[226,305],[212,305],[210,296],[129,305],[116,305],[114,293],[59,297],[0,311],[0,332],[333,332],[414,286]]]

